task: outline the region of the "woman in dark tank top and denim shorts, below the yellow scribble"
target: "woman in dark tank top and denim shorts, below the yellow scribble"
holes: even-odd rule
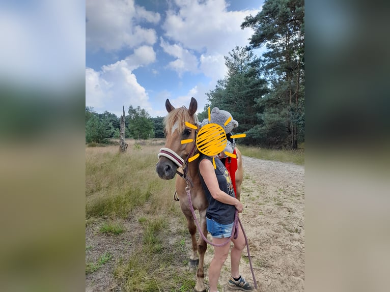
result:
[[[229,172],[224,164],[217,159],[221,154],[223,155],[223,153],[220,153],[214,157],[216,169],[214,169],[212,163],[212,156],[202,154],[199,158],[200,178],[209,202],[206,212],[207,230],[212,236],[214,244],[222,244],[231,236],[235,210],[237,209],[241,213],[243,209],[242,203],[235,198]],[[238,227],[238,238],[232,238],[234,244],[230,253],[232,270],[228,285],[234,289],[252,291],[254,289],[253,285],[245,281],[239,272],[241,252],[245,247],[245,238],[241,227]],[[209,292],[218,292],[218,278],[221,268],[228,257],[229,249],[230,243],[222,247],[214,247],[214,257],[209,267]]]

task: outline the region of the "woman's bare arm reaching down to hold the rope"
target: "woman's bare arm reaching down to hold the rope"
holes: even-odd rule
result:
[[[209,189],[211,196],[214,199],[222,203],[226,203],[228,205],[233,205],[234,207],[236,207],[238,212],[242,212],[243,209],[242,203],[236,198],[228,195],[227,193],[219,189],[214,166],[210,160],[203,159],[199,163],[199,171],[201,172],[203,180],[205,181],[206,186]]]

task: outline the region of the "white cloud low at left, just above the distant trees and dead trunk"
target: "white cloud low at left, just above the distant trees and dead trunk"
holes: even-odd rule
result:
[[[155,59],[153,48],[142,46],[125,60],[102,66],[100,71],[86,68],[86,105],[118,116],[121,115],[122,104],[125,108],[139,105],[151,113],[149,95],[132,71]]]

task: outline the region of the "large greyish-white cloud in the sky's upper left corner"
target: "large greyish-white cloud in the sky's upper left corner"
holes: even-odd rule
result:
[[[157,41],[155,30],[139,24],[156,24],[160,14],[134,5],[133,0],[87,0],[86,45],[89,50],[133,48]]]

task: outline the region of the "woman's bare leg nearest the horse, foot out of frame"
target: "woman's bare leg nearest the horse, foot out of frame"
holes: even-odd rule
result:
[[[222,244],[224,242],[226,242],[226,238],[213,237],[213,243],[215,244]],[[230,249],[230,242],[221,247],[214,246],[214,257],[211,260],[210,267],[209,267],[210,292],[217,291],[219,275],[221,272],[222,265],[224,265],[224,262],[228,257],[229,249]]]

